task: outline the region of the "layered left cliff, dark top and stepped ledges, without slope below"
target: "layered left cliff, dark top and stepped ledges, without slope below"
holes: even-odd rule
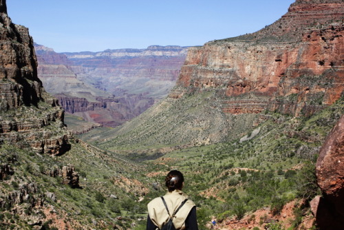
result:
[[[43,89],[28,29],[14,25],[0,2],[0,138],[40,153],[69,149],[63,110]]]

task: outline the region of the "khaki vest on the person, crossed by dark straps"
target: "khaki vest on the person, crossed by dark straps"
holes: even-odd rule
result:
[[[169,208],[169,213],[172,215],[186,198],[188,198],[188,196],[178,189],[167,192],[164,196],[164,200]],[[161,229],[162,225],[166,224],[169,220],[169,214],[166,211],[162,199],[160,197],[154,198],[149,202],[147,207],[151,221]],[[195,207],[195,203],[191,200],[187,200],[178,213],[175,214],[175,217],[172,220],[175,229],[185,229],[185,220],[193,207]]]

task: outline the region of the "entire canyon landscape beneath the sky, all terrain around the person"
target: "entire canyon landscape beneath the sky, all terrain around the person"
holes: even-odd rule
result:
[[[343,9],[296,0],[198,47],[56,53],[0,0],[0,229],[146,229],[171,169],[199,229],[341,229]]]

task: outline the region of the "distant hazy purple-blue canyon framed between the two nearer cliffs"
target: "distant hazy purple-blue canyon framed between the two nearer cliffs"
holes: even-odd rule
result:
[[[116,127],[164,98],[175,84],[186,48],[54,52],[35,45],[39,79],[65,112]]]

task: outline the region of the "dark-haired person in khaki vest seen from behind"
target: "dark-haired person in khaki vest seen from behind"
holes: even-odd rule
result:
[[[168,189],[167,193],[162,197],[154,198],[147,205],[147,230],[162,229],[169,224],[170,218],[175,229],[198,230],[195,203],[182,191],[183,174],[178,170],[170,171],[165,178],[165,185]]]

